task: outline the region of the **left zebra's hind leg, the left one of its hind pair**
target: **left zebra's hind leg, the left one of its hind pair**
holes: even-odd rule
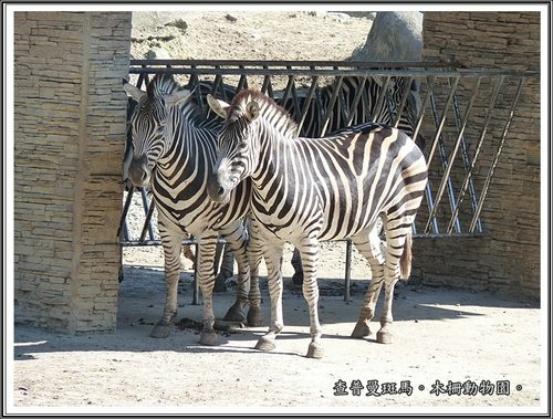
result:
[[[225,315],[229,322],[242,323],[246,321],[244,310],[248,306],[248,291],[250,285],[250,264],[247,254],[247,234],[241,220],[232,223],[229,229],[221,230],[221,235],[227,240],[238,263],[237,301]]]

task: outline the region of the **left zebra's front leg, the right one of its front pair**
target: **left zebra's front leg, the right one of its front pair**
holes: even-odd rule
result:
[[[213,258],[217,248],[217,232],[205,232],[198,239],[198,254],[197,254],[197,280],[204,296],[204,328],[200,334],[201,345],[217,345],[218,338],[213,329],[215,314],[213,314]]]

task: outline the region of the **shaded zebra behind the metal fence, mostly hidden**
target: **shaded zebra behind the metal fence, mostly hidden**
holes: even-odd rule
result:
[[[404,96],[405,106],[399,109]],[[333,97],[336,97],[334,103]],[[420,111],[419,83],[409,77],[394,77],[386,87],[386,82],[378,76],[344,76],[317,91],[311,103],[307,103],[306,94],[296,97],[296,101],[291,96],[285,99],[276,97],[275,101],[293,114],[296,121],[303,119],[300,134],[304,137],[332,134],[345,126],[367,122],[392,125],[399,113],[397,127],[413,138]],[[307,112],[302,115],[305,107]],[[420,149],[425,148],[425,138],[420,133],[415,143]],[[382,223],[377,229],[380,227]],[[303,269],[298,249],[292,254],[292,265],[293,283],[302,284]]]

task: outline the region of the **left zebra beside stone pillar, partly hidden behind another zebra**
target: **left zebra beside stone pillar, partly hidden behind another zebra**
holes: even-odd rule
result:
[[[135,186],[150,188],[158,209],[165,256],[166,304],[152,336],[170,334],[177,314],[179,256],[186,233],[198,240],[197,281],[204,295],[200,343],[217,344],[212,289],[218,233],[231,247],[239,265],[237,301],[225,318],[243,321],[243,310],[250,296],[248,322],[262,324],[261,295],[257,279],[250,281],[247,233],[241,220],[250,211],[250,181],[236,188],[222,205],[210,200],[206,190],[215,164],[220,119],[206,119],[200,115],[197,105],[190,101],[191,92],[181,90],[171,75],[157,74],[146,92],[128,83],[124,83],[124,90],[137,101],[131,116],[133,158],[128,177]]]

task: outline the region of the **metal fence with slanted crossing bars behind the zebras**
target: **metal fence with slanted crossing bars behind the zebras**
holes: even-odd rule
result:
[[[426,138],[424,149],[429,169],[425,199],[414,226],[415,237],[476,235],[486,233],[482,208],[492,187],[495,167],[509,128],[515,115],[520,93],[534,73],[509,71],[451,70],[429,63],[362,63],[362,62],[257,62],[257,61],[178,61],[135,60],[131,62],[131,82],[145,88],[153,74],[165,72],[195,88],[209,82],[211,94],[230,101],[229,92],[253,87],[261,90],[278,103],[292,103],[291,115],[300,128],[310,115],[310,106],[327,85],[333,86],[326,106],[319,106],[321,132],[331,118],[332,109],[341,109],[344,125],[357,113],[364,97],[365,81],[378,80],[384,92],[378,104],[389,103],[388,86],[399,77],[419,85],[419,106],[415,119],[415,134]],[[340,87],[346,77],[359,77],[362,86],[353,102],[344,99]],[[368,83],[368,82],[367,82]],[[232,88],[229,88],[231,86]],[[205,88],[196,88],[196,101],[207,112]],[[410,92],[406,90],[399,101],[394,121],[408,112]],[[373,115],[364,115],[372,121]],[[125,198],[118,238],[122,245],[159,244],[152,219],[155,212],[146,192],[139,190],[144,209],[144,223],[138,237],[128,233],[127,211],[134,188]],[[186,243],[194,243],[185,241]],[[351,243],[347,242],[346,282],[351,263]]]

